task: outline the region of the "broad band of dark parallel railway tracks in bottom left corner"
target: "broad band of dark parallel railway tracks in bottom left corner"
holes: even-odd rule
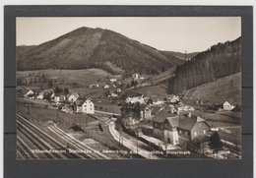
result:
[[[22,134],[34,146],[27,146],[22,139],[18,139],[18,151],[24,155],[24,158],[53,158],[53,159],[67,159],[67,158],[91,158],[90,156],[81,156],[74,152],[66,151],[66,146],[62,145],[55,139],[51,138],[40,129],[32,125],[22,116],[18,115],[18,135]],[[25,155],[26,154],[26,155]],[[34,156],[32,156],[34,154]]]

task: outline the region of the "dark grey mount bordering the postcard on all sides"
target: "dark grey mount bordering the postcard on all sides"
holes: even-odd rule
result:
[[[5,177],[252,177],[253,8],[249,6],[5,6]],[[18,160],[16,20],[19,17],[240,17],[241,158],[160,160]],[[98,125],[100,130],[101,126]],[[102,129],[102,128],[101,128]]]

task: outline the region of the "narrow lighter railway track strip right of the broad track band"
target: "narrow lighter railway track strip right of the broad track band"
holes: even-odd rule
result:
[[[73,137],[69,136],[68,134],[66,134],[64,131],[62,131],[61,129],[59,129],[55,125],[49,126],[48,128],[52,132],[56,133],[59,137],[61,137],[64,140],[66,140],[69,144],[71,144],[75,148],[77,148],[75,151],[78,151],[78,152],[81,152],[81,153],[86,152],[87,154],[89,154],[94,159],[109,159],[108,156],[100,153],[99,151],[96,151],[93,148],[90,148],[90,147],[84,145],[80,141],[78,141],[75,138],[73,138]]]

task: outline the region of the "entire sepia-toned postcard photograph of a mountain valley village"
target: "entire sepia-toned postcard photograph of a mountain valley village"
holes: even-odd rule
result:
[[[241,159],[241,17],[17,17],[17,159]]]

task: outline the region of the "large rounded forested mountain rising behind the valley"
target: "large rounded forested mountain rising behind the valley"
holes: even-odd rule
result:
[[[155,75],[182,61],[112,30],[80,28],[21,53],[17,70],[103,69],[130,77]]]

